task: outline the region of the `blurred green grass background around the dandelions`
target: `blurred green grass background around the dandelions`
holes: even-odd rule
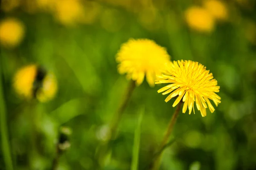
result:
[[[82,1],[88,11],[90,2]],[[218,23],[211,33],[194,31],[185,23],[184,11],[200,5],[200,0],[129,1],[130,6],[111,0],[93,2],[99,5],[93,22],[72,26],[63,25],[47,11],[31,12],[24,6],[1,13],[1,19],[18,18],[26,31],[19,46],[1,47],[0,53],[14,169],[50,169],[60,126],[70,127],[73,133],[58,170],[99,169],[96,150],[128,85],[125,76],[117,73],[115,55],[133,37],[152,39],[166,47],[172,60],[202,63],[220,85],[221,104],[214,113],[207,110],[206,117],[199,111],[180,113],[172,133],[176,139],[163,154],[161,170],[255,170],[256,30],[248,28],[255,25],[254,1],[225,1],[229,20]],[[148,13],[142,14],[145,10]],[[89,13],[85,11],[85,15]],[[13,76],[30,63],[55,73],[58,94],[53,100],[31,102],[15,94]],[[165,103],[165,96],[157,94],[161,87],[150,88],[143,82],[135,89],[111,142],[105,170],[131,169],[134,131],[142,106],[138,169],[147,169],[174,112],[172,102]],[[3,151],[1,170],[6,168]]]

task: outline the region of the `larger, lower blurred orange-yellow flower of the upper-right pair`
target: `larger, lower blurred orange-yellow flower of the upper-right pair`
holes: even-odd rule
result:
[[[215,28],[215,20],[204,8],[192,6],[185,11],[185,19],[189,27],[201,31],[212,32]]]

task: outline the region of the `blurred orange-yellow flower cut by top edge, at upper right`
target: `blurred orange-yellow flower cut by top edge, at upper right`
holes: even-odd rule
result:
[[[219,0],[206,0],[204,7],[217,20],[227,20],[228,11],[224,2]]]

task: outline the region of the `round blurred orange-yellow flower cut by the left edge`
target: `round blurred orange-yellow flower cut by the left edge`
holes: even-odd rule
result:
[[[0,43],[7,48],[20,44],[24,36],[24,25],[15,18],[7,18],[0,23]]]

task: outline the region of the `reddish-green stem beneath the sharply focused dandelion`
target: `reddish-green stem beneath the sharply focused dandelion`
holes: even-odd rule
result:
[[[181,105],[182,105],[182,101],[179,102],[174,114],[172,115],[172,119],[169,122],[169,125],[168,125],[168,128],[166,130],[165,136],[163,137],[163,140],[162,140],[161,145],[159,147],[159,154],[153,160],[152,170],[158,170],[159,167],[160,167],[160,161],[161,161],[161,158],[162,158],[163,150],[166,148],[166,144],[168,143],[168,140],[169,140],[170,135],[172,133],[173,127],[174,127],[175,122],[177,120],[177,116],[179,115]]]

